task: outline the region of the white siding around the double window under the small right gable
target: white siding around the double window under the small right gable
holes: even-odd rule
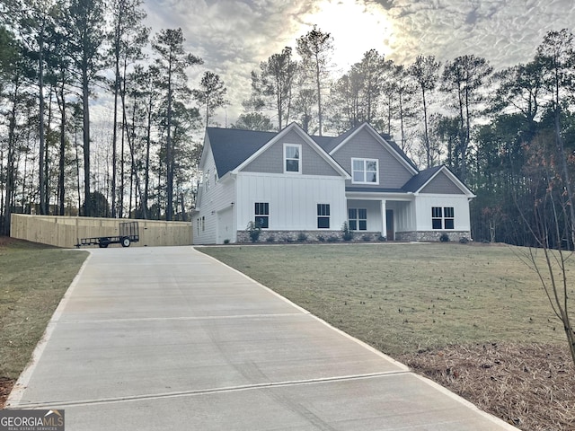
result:
[[[416,200],[418,231],[432,231],[431,207],[453,207],[455,231],[470,231],[469,202],[465,196],[419,195]],[[450,230],[450,229],[449,229]]]

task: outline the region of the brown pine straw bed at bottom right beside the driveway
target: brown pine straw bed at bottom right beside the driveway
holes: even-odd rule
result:
[[[575,366],[562,346],[451,346],[396,359],[521,430],[575,429]]]

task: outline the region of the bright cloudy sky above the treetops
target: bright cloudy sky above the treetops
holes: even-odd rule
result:
[[[230,106],[217,116],[234,122],[250,92],[250,72],[314,24],[330,32],[332,61],[346,70],[371,48],[399,64],[418,54],[445,61],[486,57],[496,69],[529,61],[550,30],[575,22],[572,0],[144,0],[153,31],[178,28],[189,52],[221,75]]]

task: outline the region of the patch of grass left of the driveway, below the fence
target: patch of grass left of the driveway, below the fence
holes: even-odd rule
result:
[[[22,373],[87,255],[0,237],[0,377]]]

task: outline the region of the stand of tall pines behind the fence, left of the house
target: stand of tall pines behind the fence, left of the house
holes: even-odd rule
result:
[[[13,212],[189,213],[191,136],[226,103],[226,87],[206,71],[190,88],[187,69],[202,59],[181,29],[151,35],[145,19],[142,0],[0,3],[2,233]]]

